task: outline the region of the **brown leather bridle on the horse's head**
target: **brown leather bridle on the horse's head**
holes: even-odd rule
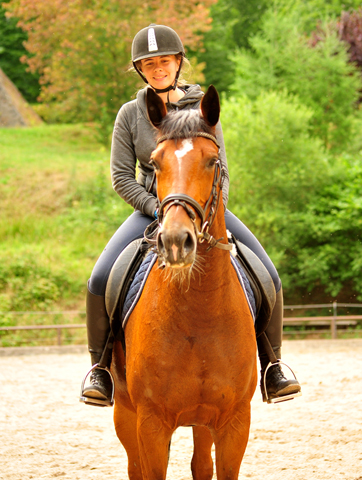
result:
[[[206,132],[197,132],[193,136],[204,137],[213,141],[215,145],[218,147],[218,149],[220,150],[220,145],[218,144],[218,141],[214,135],[211,135],[210,133],[206,133]],[[167,135],[163,135],[158,138],[157,145],[159,145],[160,143],[166,140],[171,140],[171,139],[172,137],[170,138]],[[214,247],[220,248],[221,250],[232,250],[233,247],[231,244],[220,243],[221,240],[224,239],[224,237],[221,237],[216,240],[209,233],[209,229],[211,228],[215,220],[216,213],[219,208],[220,192],[224,183],[224,179],[225,179],[225,169],[224,167],[221,166],[221,161],[219,158],[215,162],[214,179],[212,182],[211,193],[205,204],[205,207],[202,208],[201,205],[194,198],[184,193],[172,193],[170,195],[167,195],[167,197],[165,197],[162,200],[159,208],[157,209],[158,226],[161,227],[162,221],[171,207],[181,206],[186,211],[187,215],[190,217],[190,220],[194,225],[194,230],[195,230],[195,234],[198,242],[203,243],[204,241],[206,241],[209,244],[207,251],[209,251],[211,248],[214,248]],[[201,219],[201,230],[199,230],[196,226],[197,217],[195,212]],[[150,227],[151,226],[152,224],[150,225]],[[154,235],[152,235],[152,238],[148,237],[148,232],[149,230],[146,229],[145,240],[148,243],[155,243],[156,240],[154,239]]]

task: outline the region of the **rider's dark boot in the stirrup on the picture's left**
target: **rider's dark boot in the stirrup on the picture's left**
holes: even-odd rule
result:
[[[102,364],[92,370],[90,386],[83,389],[80,401],[99,407],[112,406],[113,383],[109,372],[112,358],[112,344],[107,345],[110,332],[109,318],[103,296],[94,295],[87,288],[87,334],[88,350],[92,365]],[[107,352],[104,349],[107,345]]]

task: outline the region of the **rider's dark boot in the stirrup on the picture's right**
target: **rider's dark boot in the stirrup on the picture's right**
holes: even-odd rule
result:
[[[276,295],[276,302],[272,312],[271,319],[265,331],[266,336],[273,348],[274,354],[278,360],[281,359],[281,346],[283,336],[283,290],[280,289]],[[280,365],[270,363],[269,356],[262,339],[258,338],[258,352],[261,365],[260,388],[263,396],[263,402],[276,403],[285,400],[292,400],[301,395],[301,388],[296,378],[287,379]],[[266,377],[265,376],[265,371]],[[264,385],[265,381],[265,385]],[[266,387],[266,388],[265,388]]]

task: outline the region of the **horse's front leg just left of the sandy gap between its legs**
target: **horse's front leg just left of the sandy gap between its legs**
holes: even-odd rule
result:
[[[137,438],[144,480],[165,480],[173,430],[156,415],[138,410]]]

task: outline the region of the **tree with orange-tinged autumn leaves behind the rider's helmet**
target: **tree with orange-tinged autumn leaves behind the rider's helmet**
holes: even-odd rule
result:
[[[28,34],[26,62],[40,74],[40,98],[62,120],[96,121],[107,143],[116,113],[136,90],[127,73],[132,38],[150,23],[172,25],[198,48],[214,0],[11,0],[6,9]],[[199,34],[195,34],[199,31]]]

